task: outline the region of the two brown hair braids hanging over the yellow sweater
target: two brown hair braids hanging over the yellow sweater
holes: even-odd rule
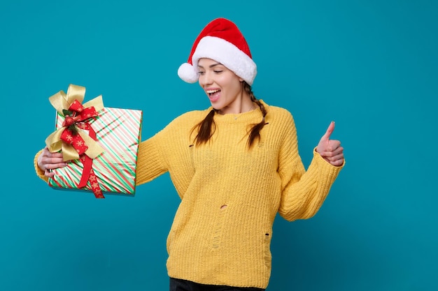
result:
[[[255,98],[251,86],[247,82],[243,81],[242,83],[243,83],[242,85],[243,90],[245,90],[246,93],[250,96],[251,101],[257,104],[258,107],[260,107],[260,110],[262,111],[263,114],[262,121],[260,121],[260,123],[258,124],[253,124],[253,127],[251,128],[250,133],[248,135],[248,148],[251,148],[253,147],[253,144],[256,139],[260,140],[260,130],[262,130],[262,128],[265,125],[264,117],[266,116],[267,112],[266,109],[264,108],[264,105],[260,102],[260,100],[257,100],[257,98]],[[207,114],[207,116],[204,118],[204,120],[202,120],[201,122],[199,122],[199,124],[197,124],[194,128],[192,128],[192,132],[194,130],[197,130],[198,132],[194,140],[194,143],[196,143],[196,145],[201,145],[201,144],[205,144],[206,142],[209,142],[209,140],[213,136],[213,133],[216,130],[216,124],[214,122],[213,117],[217,111],[218,110],[212,109],[209,112],[209,114]]]

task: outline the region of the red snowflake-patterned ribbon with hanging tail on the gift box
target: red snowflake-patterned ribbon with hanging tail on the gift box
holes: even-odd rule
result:
[[[72,112],[71,115],[66,115],[64,119],[64,123],[62,126],[66,126],[64,131],[61,134],[61,140],[64,142],[71,144],[71,146],[76,149],[80,156],[80,161],[83,163],[84,168],[82,172],[82,176],[79,181],[79,188],[83,188],[87,186],[87,182],[90,181],[90,185],[94,196],[96,198],[104,198],[104,194],[99,187],[99,183],[97,182],[96,174],[92,169],[93,160],[89,156],[85,155],[85,151],[87,151],[88,147],[85,144],[85,141],[78,133],[73,133],[73,131],[69,128],[69,126],[76,126],[77,128],[81,128],[83,130],[88,130],[88,135],[93,140],[97,140],[96,132],[92,128],[92,126],[87,122],[88,119],[92,119],[97,117],[97,111],[93,106],[91,107],[83,107],[82,104],[78,102],[78,100],[74,100],[71,106],[69,107],[69,111]]]

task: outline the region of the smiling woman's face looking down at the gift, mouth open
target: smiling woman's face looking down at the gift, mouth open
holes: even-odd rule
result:
[[[253,107],[248,94],[243,90],[243,80],[232,70],[212,59],[198,61],[199,85],[204,89],[211,106],[221,114],[241,113]]]

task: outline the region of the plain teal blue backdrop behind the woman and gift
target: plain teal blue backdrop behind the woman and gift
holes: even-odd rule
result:
[[[32,163],[69,84],[143,110],[143,140],[209,101],[176,75],[227,17],[253,89],[295,117],[306,167],[336,121],[346,167],[318,214],[274,223],[268,290],[438,290],[437,1],[2,1],[0,290],[167,290],[169,176],[135,197],[55,191]]]

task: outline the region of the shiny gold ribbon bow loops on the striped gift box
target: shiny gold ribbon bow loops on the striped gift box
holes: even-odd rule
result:
[[[57,94],[51,96],[49,100],[52,106],[55,107],[57,112],[64,116],[63,110],[69,110],[71,104],[75,100],[78,100],[78,102],[82,104],[84,97],[85,87],[70,84],[69,89],[67,89],[67,94],[65,94],[64,91],[61,90]],[[92,106],[97,112],[104,109],[104,102],[101,95],[83,104],[83,107],[85,108]],[[61,140],[61,135],[64,129],[66,129],[66,126],[63,126],[57,129],[55,132],[51,133],[45,139],[45,144],[47,145],[49,151],[52,153],[62,150],[62,157],[64,158],[64,161],[76,160],[80,158],[76,149],[74,149],[71,144],[67,144],[66,142],[63,142]],[[96,158],[104,151],[104,149],[83,130],[79,129],[78,134],[85,141],[85,144],[88,147],[88,149],[85,151],[85,154],[90,158]]]

